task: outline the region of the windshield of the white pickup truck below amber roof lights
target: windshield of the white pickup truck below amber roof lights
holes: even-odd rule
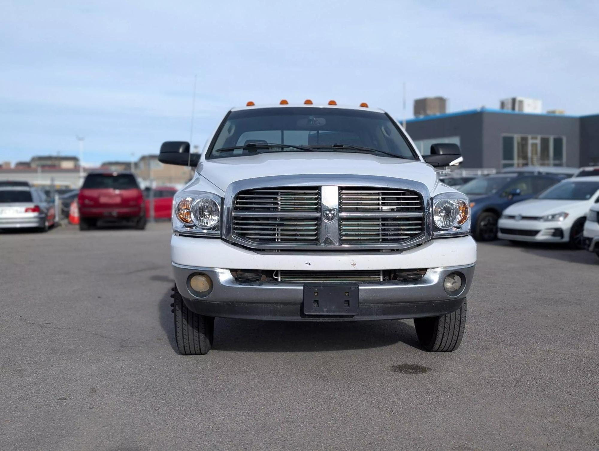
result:
[[[386,114],[341,108],[257,108],[232,111],[219,128],[206,158],[253,155],[257,152],[305,152],[294,147],[252,147],[219,152],[246,144],[314,146],[319,152],[361,152],[358,149],[323,149],[317,146],[367,147],[401,158],[416,159],[399,129]],[[376,154],[382,155],[382,154]]]

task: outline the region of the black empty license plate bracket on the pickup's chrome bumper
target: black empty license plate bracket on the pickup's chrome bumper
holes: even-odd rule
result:
[[[353,316],[358,308],[357,283],[304,283],[304,314]]]

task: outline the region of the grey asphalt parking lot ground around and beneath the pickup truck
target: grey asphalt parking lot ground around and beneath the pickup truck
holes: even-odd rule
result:
[[[597,449],[599,259],[479,243],[462,346],[217,319],[174,350],[170,228],[0,234],[0,449]]]

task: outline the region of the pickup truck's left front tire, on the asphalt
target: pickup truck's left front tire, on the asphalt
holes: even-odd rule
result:
[[[177,286],[173,288],[173,299],[177,349],[186,356],[207,354],[214,340],[214,318],[189,310]]]

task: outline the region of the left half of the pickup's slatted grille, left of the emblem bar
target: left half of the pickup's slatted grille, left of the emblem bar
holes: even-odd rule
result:
[[[250,189],[235,196],[232,229],[253,243],[317,244],[318,187]]]

